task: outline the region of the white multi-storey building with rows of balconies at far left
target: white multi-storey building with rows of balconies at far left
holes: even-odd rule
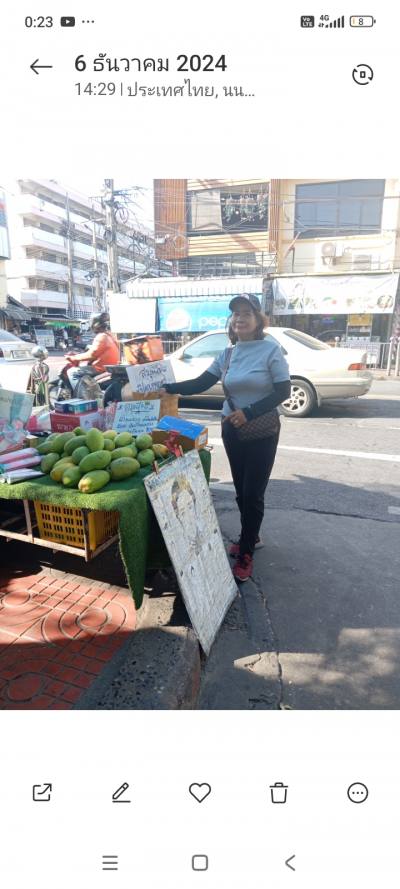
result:
[[[8,293],[44,319],[88,318],[105,306],[108,231],[104,207],[48,179],[18,180],[13,191],[7,201]],[[118,224],[117,243],[123,289],[126,280],[146,271],[151,239],[144,230]]]

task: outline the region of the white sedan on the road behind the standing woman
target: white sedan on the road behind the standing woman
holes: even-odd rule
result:
[[[372,374],[366,369],[363,349],[333,348],[291,327],[272,327],[267,336],[278,341],[288,361],[292,392],[280,410],[288,417],[307,417],[313,408],[332,398],[365,395]],[[214,358],[229,345],[225,330],[205,333],[181,346],[169,357],[175,379],[193,379],[208,369]],[[192,398],[223,398],[220,382]]]

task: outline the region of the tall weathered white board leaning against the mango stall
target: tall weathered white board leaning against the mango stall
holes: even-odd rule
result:
[[[144,479],[187,612],[209,654],[237,587],[197,451]]]

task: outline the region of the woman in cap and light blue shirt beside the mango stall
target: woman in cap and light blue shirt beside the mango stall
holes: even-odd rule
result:
[[[241,518],[240,538],[229,553],[236,558],[233,574],[243,582],[252,575],[255,548],[262,545],[264,494],[280,432],[276,408],[290,396],[290,376],[281,347],[265,335],[268,319],[259,299],[243,293],[231,300],[229,309],[232,346],[197,379],[168,384],[162,391],[195,395],[218,380],[223,383],[222,440]]]

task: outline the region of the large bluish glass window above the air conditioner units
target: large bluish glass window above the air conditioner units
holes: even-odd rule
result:
[[[384,192],[384,179],[298,185],[294,234],[323,238],[380,232]]]

